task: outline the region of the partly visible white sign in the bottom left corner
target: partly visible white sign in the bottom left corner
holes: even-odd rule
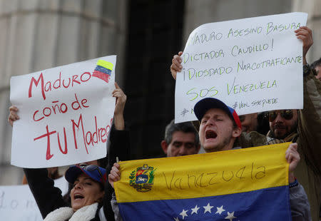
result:
[[[65,195],[68,192],[66,179],[62,177],[54,181]],[[0,186],[0,217],[1,220],[43,220],[28,185]]]

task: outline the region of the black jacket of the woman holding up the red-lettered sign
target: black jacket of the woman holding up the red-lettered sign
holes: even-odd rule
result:
[[[110,173],[113,163],[116,162],[116,157],[120,160],[129,160],[130,157],[130,141],[127,130],[111,129],[110,148],[108,149],[108,163],[106,167],[106,174]],[[45,218],[50,212],[60,208],[69,207],[70,202],[63,200],[61,190],[54,187],[54,180],[48,178],[48,170],[46,168],[30,169],[24,168],[24,173],[28,180],[28,185],[36,203],[39,207],[41,215]],[[114,220],[113,210],[111,210],[111,194],[113,191],[111,185],[106,182],[105,195],[103,202],[98,206],[96,217],[93,220],[100,220],[98,212],[103,206],[106,219],[108,221]]]

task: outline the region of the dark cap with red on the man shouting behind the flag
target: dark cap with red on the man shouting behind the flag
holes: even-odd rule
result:
[[[201,121],[206,111],[213,108],[218,108],[225,111],[225,113],[227,113],[230,116],[230,118],[234,120],[236,125],[238,125],[238,128],[242,129],[240,118],[238,118],[238,113],[236,113],[236,111],[233,108],[223,103],[223,101],[220,101],[216,98],[204,98],[198,101],[198,103],[196,103],[194,106],[194,113],[196,115],[196,118],[198,118],[198,120]]]

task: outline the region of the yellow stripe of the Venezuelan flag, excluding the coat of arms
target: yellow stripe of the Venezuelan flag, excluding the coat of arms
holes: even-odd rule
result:
[[[117,201],[188,199],[288,185],[285,151],[289,144],[123,161],[121,180],[115,183]],[[138,192],[129,185],[133,180],[129,177],[146,164],[154,169],[153,185],[147,192]]]

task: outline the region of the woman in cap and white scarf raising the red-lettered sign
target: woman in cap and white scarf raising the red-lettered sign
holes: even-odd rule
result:
[[[116,156],[129,160],[129,134],[124,130],[123,109],[126,95],[115,83],[116,97],[114,125],[111,129],[106,170],[111,170]],[[19,119],[18,109],[10,108],[9,123]],[[66,180],[73,185],[71,202],[63,200],[61,190],[54,187],[54,180],[48,177],[48,170],[24,168],[24,173],[34,195],[42,217],[46,221],[59,220],[114,220],[111,210],[112,187],[106,182],[106,170],[98,165],[73,165],[66,171]]]

